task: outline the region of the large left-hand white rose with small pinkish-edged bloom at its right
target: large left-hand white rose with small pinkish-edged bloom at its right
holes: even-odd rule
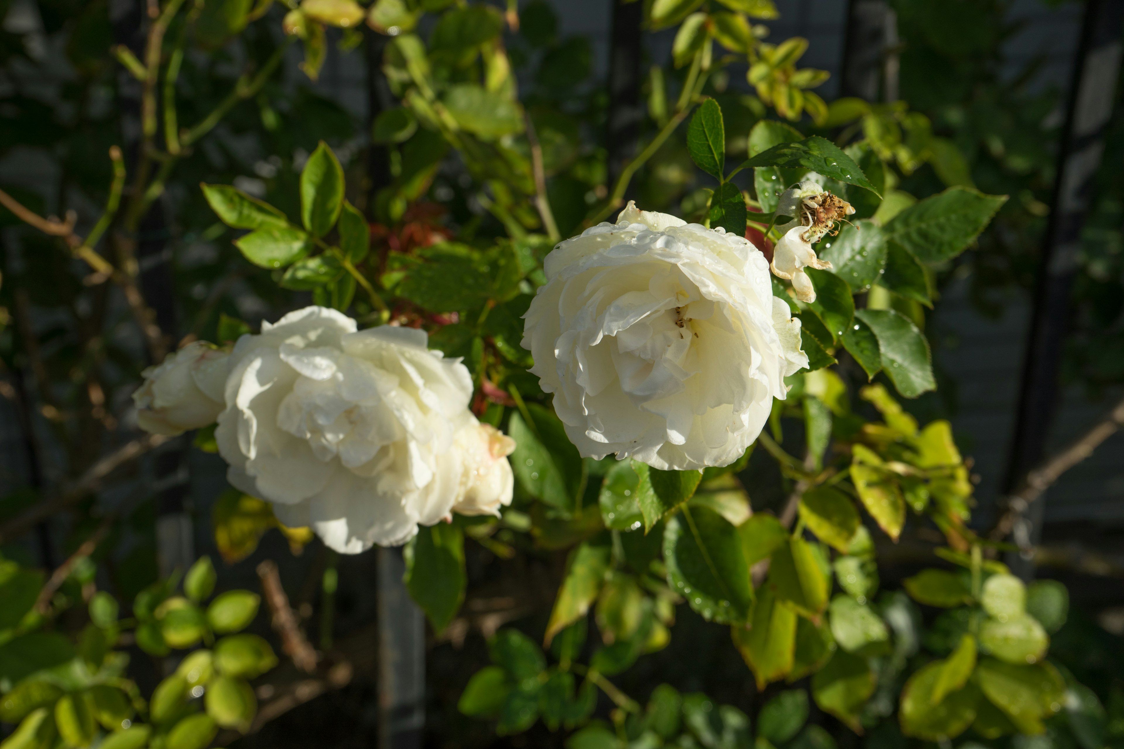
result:
[[[426,342],[323,307],[243,336],[215,432],[229,482],[344,554],[405,544],[459,503],[509,502],[510,467],[505,483],[495,466],[507,460],[478,465],[469,371]]]

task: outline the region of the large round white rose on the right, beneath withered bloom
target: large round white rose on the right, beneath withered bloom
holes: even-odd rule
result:
[[[583,456],[728,465],[808,364],[764,256],[722,229],[629,203],[544,267],[523,346]]]

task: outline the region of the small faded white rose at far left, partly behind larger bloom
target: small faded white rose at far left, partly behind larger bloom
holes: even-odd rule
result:
[[[223,385],[229,351],[197,340],[142,372],[133,393],[137,424],[154,435],[174,437],[215,423],[223,411]]]

